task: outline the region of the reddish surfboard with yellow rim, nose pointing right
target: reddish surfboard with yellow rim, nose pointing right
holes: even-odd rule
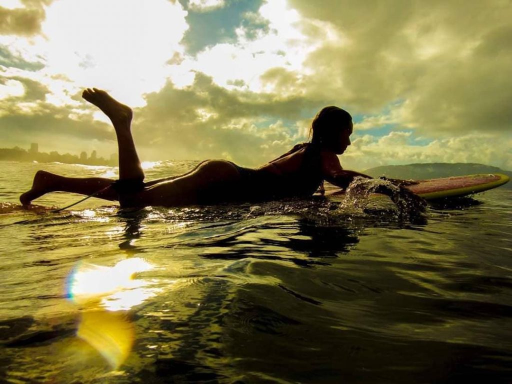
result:
[[[499,187],[509,180],[510,178],[503,174],[477,174],[417,180],[418,184],[407,185],[405,188],[425,200],[435,200],[476,194]],[[343,196],[339,188],[329,189],[326,190],[326,196]]]

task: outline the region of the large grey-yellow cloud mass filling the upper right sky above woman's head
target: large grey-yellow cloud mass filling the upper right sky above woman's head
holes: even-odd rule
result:
[[[290,4],[339,36],[338,44],[323,44],[307,58],[311,73],[300,88],[308,95],[377,115],[401,100],[398,123],[431,137],[509,129],[512,9],[506,2],[470,1],[462,9],[440,1]]]

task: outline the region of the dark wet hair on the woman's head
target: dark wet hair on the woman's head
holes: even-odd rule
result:
[[[349,129],[352,116],[338,106],[330,105],[318,112],[311,123],[309,136],[311,143],[322,144],[328,142],[336,129]],[[346,127],[346,128],[345,128]]]

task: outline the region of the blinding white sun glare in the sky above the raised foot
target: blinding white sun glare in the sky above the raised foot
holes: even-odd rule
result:
[[[181,5],[165,0],[68,0],[46,13],[48,69],[79,87],[108,89],[132,106],[163,86],[165,62],[181,50],[188,28]]]

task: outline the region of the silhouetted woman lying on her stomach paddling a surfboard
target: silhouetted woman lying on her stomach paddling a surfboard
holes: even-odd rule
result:
[[[53,191],[94,194],[97,198],[119,201],[121,207],[268,201],[309,197],[324,180],[346,188],[356,176],[369,178],[340,165],[336,155],[343,154],[350,145],[352,117],[336,106],[327,106],[313,120],[310,142],[297,144],[258,168],[244,168],[226,160],[206,160],[186,174],[144,182],[131,132],[132,109],[96,88],[84,90],[82,97],[103,111],[114,125],[119,180],[71,178],[40,170],[32,188],[19,198],[23,205]],[[411,193],[403,189],[403,194]]]

